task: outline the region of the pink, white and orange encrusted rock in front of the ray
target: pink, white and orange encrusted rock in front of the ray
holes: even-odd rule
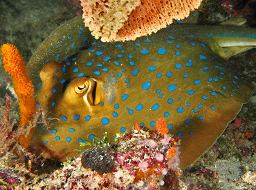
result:
[[[116,142],[107,146],[106,151],[102,147],[89,150],[92,157],[101,154],[107,158],[113,164],[110,169],[107,162],[93,162],[89,157],[80,156],[68,159],[62,169],[57,169],[44,180],[27,184],[26,188],[177,189],[180,176],[179,145],[179,140],[170,134],[149,131],[147,127],[137,124],[125,134],[117,134]],[[100,171],[84,168],[84,162],[100,168]],[[19,187],[23,188],[23,185]]]

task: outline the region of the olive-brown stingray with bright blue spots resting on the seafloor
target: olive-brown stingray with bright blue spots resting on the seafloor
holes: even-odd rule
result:
[[[79,19],[66,24],[68,31],[65,25],[55,30],[28,63],[37,103],[57,118],[31,139],[30,149],[47,158],[75,156],[79,142],[104,132],[112,140],[134,123],[154,129],[163,117],[181,138],[181,167],[187,167],[253,93],[252,83],[225,60],[255,47],[253,28],[171,25],[136,41],[102,43],[93,42]],[[79,52],[82,39],[88,48]]]

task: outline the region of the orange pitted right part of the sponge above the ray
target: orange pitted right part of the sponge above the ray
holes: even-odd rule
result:
[[[188,17],[190,11],[199,8],[201,0],[141,0],[140,6],[131,12],[123,27],[118,30],[117,41],[135,40],[140,36],[152,34],[173,19]]]

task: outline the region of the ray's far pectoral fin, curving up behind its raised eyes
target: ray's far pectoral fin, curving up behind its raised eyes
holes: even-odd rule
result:
[[[28,62],[28,76],[37,77],[37,74],[45,63],[55,61],[62,62],[68,56],[78,52],[81,48],[91,47],[95,39],[88,28],[84,28],[81,16],[67,21],[39,45],[35,54]],[[38,64],[40,63],[40,64]]]

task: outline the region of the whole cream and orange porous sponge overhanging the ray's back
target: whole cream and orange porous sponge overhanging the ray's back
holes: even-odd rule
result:
[[[80,0],[86,27],[102,41],[129,41],[188,17],[202,0]]]

